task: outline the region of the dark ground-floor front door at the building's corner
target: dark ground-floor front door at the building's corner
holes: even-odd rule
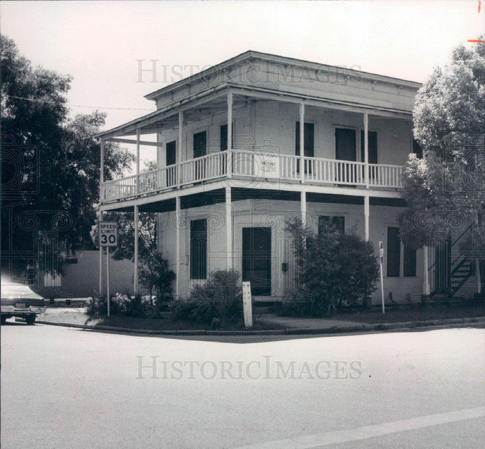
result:
[[[271,228],[242,228],[242,281],[254,296],[271,295]]]

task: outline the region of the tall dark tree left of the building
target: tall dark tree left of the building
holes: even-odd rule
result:
[[[10,259],[18,272],[32,262],[39,233],[55,235],[62,252],[92,247],[100,159],[93,135],[106,115],[69,119],[65,96],[72,78],[32,67],[6,36],[0,48],[1,243],[3,261]],[[116,144],[105,151],[106,180],[133,161]]]

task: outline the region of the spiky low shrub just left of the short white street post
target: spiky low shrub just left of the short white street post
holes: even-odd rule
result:
[[[242,286],[241,276],[236,270],[217,270],[209,275],[203,285],[194,285],[190,298],[180,312],[186,313],[190,308],[190,319],[205,324],[214,318],[223,325],[242,321]]]

